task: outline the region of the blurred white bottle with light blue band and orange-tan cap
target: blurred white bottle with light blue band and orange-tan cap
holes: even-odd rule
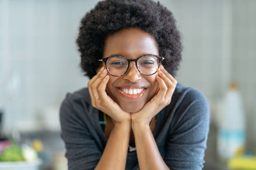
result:
[[[217,152],[221,160],[233,158],[245,147],[245,115],[235,82],[230,83],[223,100],[217,134]]]

